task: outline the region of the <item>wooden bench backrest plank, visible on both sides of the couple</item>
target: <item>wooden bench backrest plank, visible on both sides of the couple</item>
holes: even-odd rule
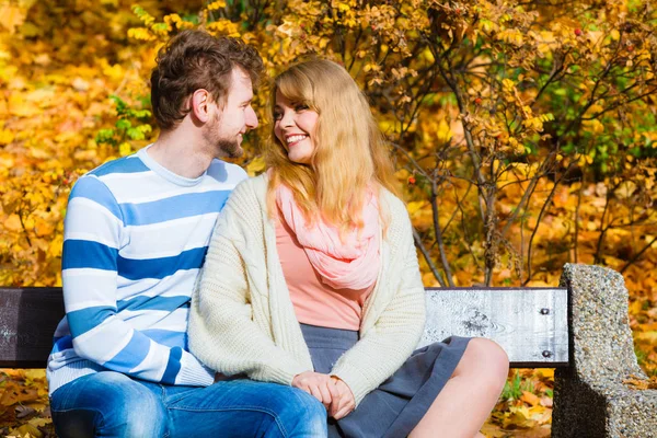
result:
[[[0,288],[0,368],[45,367],[62,315],[61,288]],[[450,335],[496,341],[511,367],[567,366],[567,290],[428,289],[420,345]]]

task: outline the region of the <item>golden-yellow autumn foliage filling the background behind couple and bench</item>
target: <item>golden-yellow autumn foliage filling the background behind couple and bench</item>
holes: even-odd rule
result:
[[[609,266],[657,374],[649,0],[4,0],[0,16],[0,285],[61,284],[71,185],[153,141],[157,50],[201,27],[254,45],[270,77],[313,56],[345,66],[390,141],[426,286],[556,286],[564,263]],[[264,170],[269,87],[239,161],[251,174]],[[549,435],[551,371],[512,371],[488,435]],[[0,422],[47,417],[37,399],[22,419],[0,402]]]

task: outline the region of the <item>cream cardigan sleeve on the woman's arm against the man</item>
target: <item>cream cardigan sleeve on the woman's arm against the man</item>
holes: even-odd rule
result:
[[[244,243],[241,228],[252,227],[258,211],[257,207],[249,211],[247,201],[240,205],[245,189],[239,188],[220,214],[192,297],[189,347],[206,366],[221,373],[245,373],[253,380],[290,385],[295,376],[308,369],[253,321],[245,262],[238,247]]]

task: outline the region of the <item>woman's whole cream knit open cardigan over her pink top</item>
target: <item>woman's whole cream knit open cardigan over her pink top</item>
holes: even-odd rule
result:
[[[224,374],[289,385],[313,366],[278,260],[267,183],[266,174],[242,182],[219,216],[192,298],[189,347]],[[360,339],[331,371],[349,385],[356,404],[408,358],[425,323],[408,214],[385,189],[380,205],[389,218],[381,270],[365,302]]]

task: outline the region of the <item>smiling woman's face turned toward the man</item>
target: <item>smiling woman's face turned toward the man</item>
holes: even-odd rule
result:
[[[290,102],[276,92],[274,134],[288,152],[290,161],[310,164],[315,150],[315,125],[320,115],[303,104]]]

